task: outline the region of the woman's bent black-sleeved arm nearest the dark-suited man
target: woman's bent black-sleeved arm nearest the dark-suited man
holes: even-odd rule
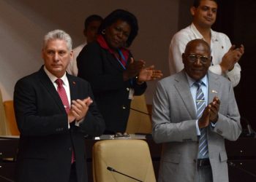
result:
[[[89,44],[78,55],[78,76],[88,81],[94,92],[131,87],[129,79],[124,81],[123,71],[115,59],[97,43]]]

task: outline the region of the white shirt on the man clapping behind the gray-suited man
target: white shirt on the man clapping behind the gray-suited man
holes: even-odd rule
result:
[[[203,39],[203,36],[197,31],[197,28],[192,23],[187,28],[178,31],[170,41],[169,49],[169,66],[170,74],[176,74],[184,68],[182,63],[182,53],[184,53],[187,43],[193,39]],[[235,64],[233,70],[222,73],[222,68],[219,63],[222,62],[222,57],[230,49],[230,39],[224,34],[211,30],[211,56],[212,65],[209,70],[214,74],[219,74],[227,77],[233,84],[233,87],[239,83],[241,78],[241,67],[238,63]]]

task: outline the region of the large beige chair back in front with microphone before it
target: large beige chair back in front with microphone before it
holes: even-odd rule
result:
[[[118,172],[140,181],[156,181],[148,143],[143,140],[98,141],[93,146],[92,160],[94,182],[135,181],[125,175],[111,172],[107,167],[113,167]]]

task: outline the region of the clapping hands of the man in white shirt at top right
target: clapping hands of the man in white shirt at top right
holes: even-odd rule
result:
[[[222,67],[222,72],[231,71],[242,55],[244,55],[244,45],[241,44],[241,47],[238,48],[236,45],[232,45],[219,64]]]

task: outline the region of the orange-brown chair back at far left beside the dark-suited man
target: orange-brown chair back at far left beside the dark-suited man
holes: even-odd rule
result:
[[[13,100],[4,101],[4,111],[7,123],[10,128],[11,135],[20,135],[20,132],[17,127],[15,112],[13,108]]]

